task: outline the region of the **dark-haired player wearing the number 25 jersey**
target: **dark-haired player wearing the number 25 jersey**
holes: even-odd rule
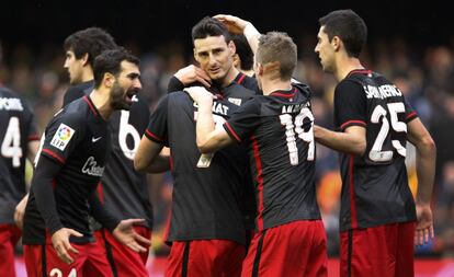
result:
[[[340,10],[319,22],[315,51],[324,70],[340,81],[338,131],[315,126],[315,137],[340,151],[341,276],[413,276],[413,239],[422,244],[433,236],[434,142],[402,93],[362,67],[364,21]],[[416,206],[405,165],[407,139],[417,148]]]

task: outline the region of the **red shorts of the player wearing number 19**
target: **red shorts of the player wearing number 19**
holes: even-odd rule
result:
[[[242,277],[328,276],[321,220],[298,220],[257,233],[242,264]]]

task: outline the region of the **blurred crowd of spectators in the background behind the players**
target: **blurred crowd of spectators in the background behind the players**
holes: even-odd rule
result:
[[[314,92],[313,112],[318,125],[332,128],[332,101],[336,80],[321,71],[314,54],[316,35],[295,39],[299,62],[294,78],[308,83]],[[422,39],[422,38],[421,38]],[[454,256],[454,37],[451,44],[416,47],[399,38],[374,38],[363,53],[365,66],[389,78],[406,95],[429,128],[438,147],[434,184],[435,240],[416,249],[418,256]],[[18,44],[8,48],[0,42],[0,84],[13,89],[33,107],[38,129],[61,107],[68,88],[63,68],[65,53],[60,45],[43,44],[41,48]],[[152,51],[137,43],[125,46],[140,57],[144,94],[154,108],[167,93],[170,77],[180,68],[194,64],[186,43],[169,42]],[[408,146],[407,165],[412,192],[417,191],[415,150]],[[317,148],[318,201],[328,234],[328,251],[338,255],[338,217],[341,182],[338,157],[332,150]],[[172,195],[170,173],[149,175],[150,200],[155,209],[152,249],[166,254],[162,242]]]

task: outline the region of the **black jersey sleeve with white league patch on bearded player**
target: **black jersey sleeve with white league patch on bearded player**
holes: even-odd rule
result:
[[[59,163],[66,163],[83,139],[84,132],[82,118],[73,114],[55,117],[46,128],[42,154]]]

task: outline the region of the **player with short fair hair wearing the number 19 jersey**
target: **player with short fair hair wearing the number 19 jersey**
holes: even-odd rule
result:
[[[214,128],[212,95],[186,89],[198,103],[201,152],[248,143],[257,197],[257,233],[241,276],[327,276],[326,235],[316,201],[310,90],[292,84],[296,45],[284,33],[262,35],[254,72],[263,95]]]

